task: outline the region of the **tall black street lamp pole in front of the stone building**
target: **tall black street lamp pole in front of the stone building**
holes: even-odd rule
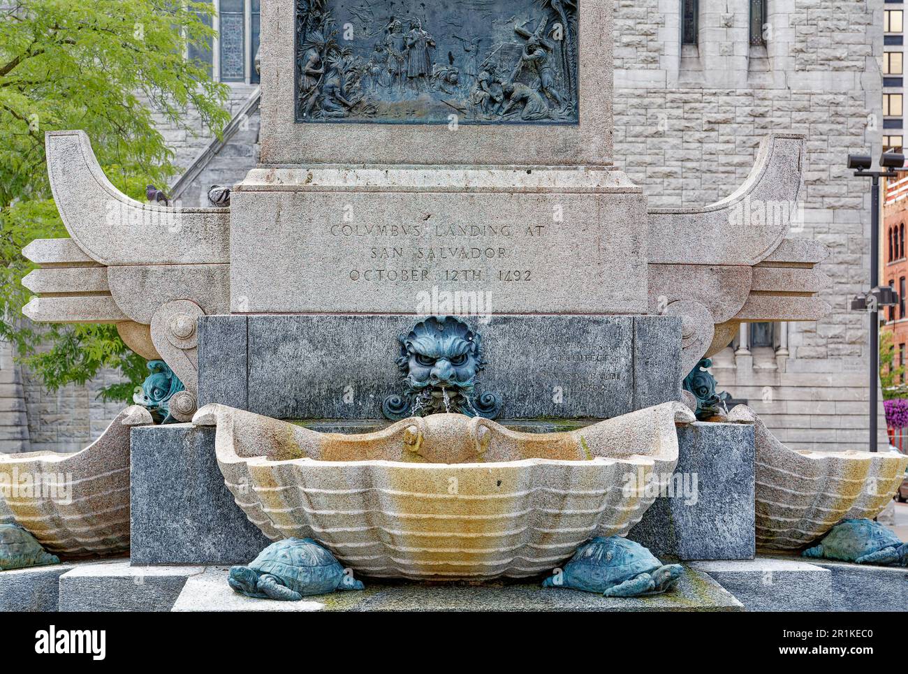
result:
[[[871,171],[873,160],[869,154],[849,154],[848,168],[854,175],[871,179],[870,187],[870,287],[865,295],[858,295],[852,309],[870,312],[870,451],[876,451],[876,384],[880,369],[880,307],[893,306],[895,293],[889,286],[880,287],[880,178],[895,178],[894,169],[903,168],[904,154],[884,152],[880,157],[883,171]]]

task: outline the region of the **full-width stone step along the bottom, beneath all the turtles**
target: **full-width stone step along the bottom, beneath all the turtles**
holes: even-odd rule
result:
[[[908,610],[908,571],[794,556],[692,562],[675,590],[611,599],[535,582],[414,583],[363,579],[366,590],[302,601],[252,600],[227,585],[226,566],[133,567],[81,561],[0,571],[9,611],[859,611]],[[57,600],[59,597],[59,600]]]

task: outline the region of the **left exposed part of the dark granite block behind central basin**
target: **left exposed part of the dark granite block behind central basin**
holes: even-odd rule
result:
[[[271,543],[224,487],[211,429],[167,424],[136,431],[134,564],[246,563]]]

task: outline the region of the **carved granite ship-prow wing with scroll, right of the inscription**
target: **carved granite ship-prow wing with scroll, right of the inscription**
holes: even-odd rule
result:
[[[769,134],[745,183],[702,208],[651,208],[649,311],[683,319],[683,372],[742,322],[815,321],[828,278],[814,241],[785,238],[803,198],[803,134]]]

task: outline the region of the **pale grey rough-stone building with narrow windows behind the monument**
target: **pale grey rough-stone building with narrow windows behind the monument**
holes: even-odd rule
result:
[[[881,149],[883,5],[615,0],[616,162],[645,188],[650,205],[718,201],[745,181],[764,134],[807,134],[803,227],[794,235],[830,249],[821,268],[830,278],[823,296],[832,312],[815,323],[745,326],[716,356],[713,369],[721,388],[748,401],[794,448],[844,450],[866,443],[867,317],[850,311],[849,303],[868,285],[869,196],[866,182],[845,169],[845,157]],[[249,25],[253,11],[245,12]],[[252,46],[243,49],[252,54]],[[219,61],[222,51],[223,45],[214,45],[215,74],[226,63]],[[242,109],[254,93],[250,56],[244,58],[247,76],[232,84],[232,110]],[[238,182],[257,161],[257,114],[223,146],[201,127],[194,135],[162,128],[178,164],[195,172],[182,186],[186,205],[203,203],[209,184]],[[22,435],[12,424],[21,425],[15,410],[25,409],[31,438],[41,438],[20,438],[19,447],[51,449],[43,432],[65,428],[57,447],[77,449],[103,428],[79,421],[80,401],[94,400],[94,382],[46,396],[27,372],[19,384],[7,383],[14,377],[4,362],[0,419],[11,420],[10,437]],[[23,401],[14,401],[17,391]],[[5,416],[8,407],[15,409]],[[112,419],[116,411],[105,406],[93,412],[91,403],[86,409],[89,419]],[[885,437],[881,431],[881,441]]]

